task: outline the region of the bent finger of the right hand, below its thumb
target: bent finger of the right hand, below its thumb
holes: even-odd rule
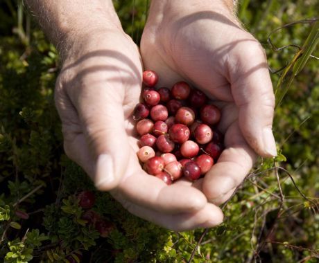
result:
[[[225,149],[218,162],[203,179],[202,191],[212,203],[221,203],[230,197],[252,168],[255,151],[241,135],[238,123],[233,123],[225,134]]]

